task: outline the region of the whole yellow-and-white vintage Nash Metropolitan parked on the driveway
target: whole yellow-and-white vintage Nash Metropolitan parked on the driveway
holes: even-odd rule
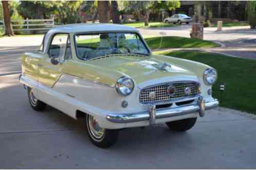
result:
[[[90,140],[109,147],[120,129],[166,123],[194,126],[212,98],[214,68],[152,54],[139,31],[109,24],[65,25],[49,30],[38,51],[21,57],[20,82],[34,110],[51,105],[84,118]]]

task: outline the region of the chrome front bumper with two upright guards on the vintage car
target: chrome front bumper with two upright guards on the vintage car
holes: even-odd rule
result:
[[[155,124],[156,119],[182,116],[194,112],[198,112],[199,116],[203,117],[205,115],[205,110],[215,108],[218,104],[217,99],[206,103],[203,97],[199,97],[197,104],[195,105],[159,110],[156,110],[156,105],[151,105],[149,111],[133,114],[109,114],[106,116],[106,119],[114,123],[131,123],[148,120],[149,123],[153,125]]]

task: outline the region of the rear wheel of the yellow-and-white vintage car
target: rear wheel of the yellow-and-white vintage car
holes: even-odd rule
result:
[[[42,111],[45,109],[46,104],[34,96],[33,89],[28,87],[28,100],[31,107],[36,111]]]

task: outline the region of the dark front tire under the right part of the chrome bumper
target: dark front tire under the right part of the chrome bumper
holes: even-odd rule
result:
[[[197,118],[189,118],[173,122],[166,122],[166,124],[173,131],[186,131],[195,125],[196,119]]]

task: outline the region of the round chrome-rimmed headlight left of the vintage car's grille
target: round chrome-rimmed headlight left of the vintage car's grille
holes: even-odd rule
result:
[[[116,90],[123,96],[130,95],[133,92],[134,82],[131,78],[121,77],[117,80]]]

